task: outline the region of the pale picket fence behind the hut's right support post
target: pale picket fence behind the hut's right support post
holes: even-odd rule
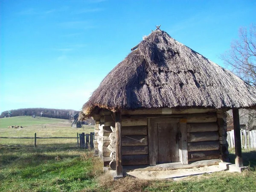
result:
[[[256,130],[242,130],[240,134],[242,148],[256,148]],[[235,147],[234,130],[227,131],[227,143],[230,148]]]

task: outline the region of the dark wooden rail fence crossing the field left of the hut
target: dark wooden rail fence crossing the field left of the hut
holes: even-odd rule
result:
[[[5,147],[37,147],[36,141],[38,139],[76,139],[77,147],[80,148],[94,148],[94,132],[90,132],[90,134],[76,134],[76,137],[37,137],[35,133],[35,137],[0,137],[1,139],[34,139],[34,146],[32,145],[0,145]],[[80,143],[80,145],[79,145]],[[47,147],[52,148],[52,147]],[[54,148],[54,147],[53,147]]]

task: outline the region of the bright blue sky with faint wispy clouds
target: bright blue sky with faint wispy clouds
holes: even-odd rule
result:
[[[223,66],[239,27],[255,21],[255,0],[0,0],[0,111],[80,110],[159,24]]]

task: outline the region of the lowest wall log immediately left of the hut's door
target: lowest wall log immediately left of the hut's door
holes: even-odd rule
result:
[[[143,155],[123,155],[122,156],[122,165],[148,165],[149,158],[148,154]]]

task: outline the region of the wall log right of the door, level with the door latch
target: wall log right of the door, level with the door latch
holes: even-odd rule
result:
[[[199,142],[199,141],[217,141],[218,139],[219,139],[218,131],[188,133],[189,143]]]

